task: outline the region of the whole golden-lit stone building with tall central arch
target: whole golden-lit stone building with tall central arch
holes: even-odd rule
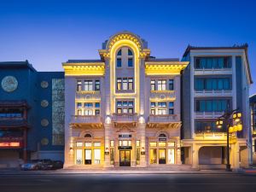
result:
[[[131,32],[109,38],[101,60],[65,70],[65,167],[179,165],[181,72],[188,61],[150,57]]]

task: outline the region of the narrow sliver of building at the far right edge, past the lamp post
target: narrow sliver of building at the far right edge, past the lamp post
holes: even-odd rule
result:
[[[252,143],[253,143],[253,165],[256,164],[256,95],[250,97]]]

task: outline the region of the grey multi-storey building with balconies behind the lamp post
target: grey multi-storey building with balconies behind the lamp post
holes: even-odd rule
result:
[[[183,163],[192,167],[225,164],[225,128],[215,122],[226,110],[239,108],[242,132],[230,141],[232,168],[251,162],[249,85],[252,84],[247,44],[233,47],[189,46],[183,61]]]

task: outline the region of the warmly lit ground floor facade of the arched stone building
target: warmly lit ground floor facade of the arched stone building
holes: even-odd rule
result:
[[[72,125],[65,165],[83,167],[146,167],[180,165],[180,127],[147,125]]]

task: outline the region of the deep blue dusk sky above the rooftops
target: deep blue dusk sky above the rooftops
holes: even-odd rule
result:
[[[63,71],[68,59],[99,59],[102,42],[131,31],[151,55],[180,58],[188,44],[249,44],[256,93],[256,1],[0,1],[0,61]]]

